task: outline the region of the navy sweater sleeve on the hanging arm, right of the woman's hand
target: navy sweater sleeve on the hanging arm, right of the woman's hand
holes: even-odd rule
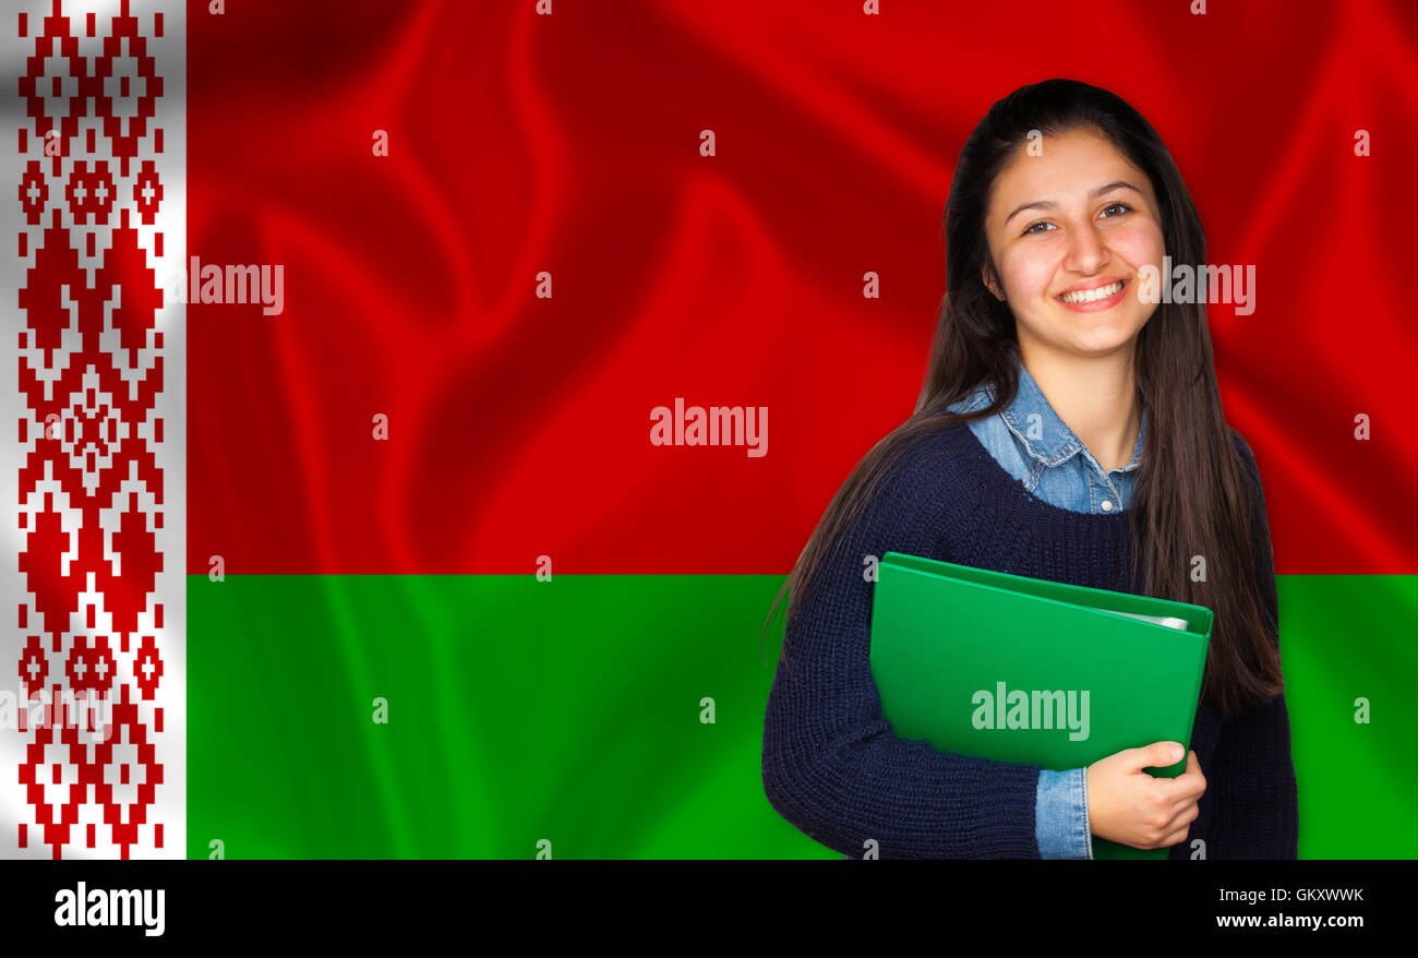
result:
[[[1239,433],[1235,439],[1254,483],[1252,494],[1258,508],[1254,548],[1259,586],[1272,640],[1279,644],[1279,600],[1265,517],[1265,492],[1249,446]],[[1283,694],[1222,724],[1207,781],[1215,789],[1215,827],[1207,857],[1296,857],[1299,820],[1295,764],[1290,758],[1290,720]]]

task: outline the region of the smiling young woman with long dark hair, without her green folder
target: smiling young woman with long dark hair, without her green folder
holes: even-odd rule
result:
[[[784,583],[770,802],[848,856],[1092,857],[1096,835],[1173,859],[1295,857],[1259,473],[1222,414],[1205,298],[1137,294],[1166,257],[1205,263],[1176,163],[1119,97],[1024,87],[966,141],[944,231],[916,410],[838,490]],[[1055,771],[892,735],[862,573],[886,551],[1212,609],[1187,771],[1143,771],[1180,758],[1168,742]]]

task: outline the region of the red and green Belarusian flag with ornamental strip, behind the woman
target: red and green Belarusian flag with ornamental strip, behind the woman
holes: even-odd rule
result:
[[[837,857],[760,627],[913,407],[961,141],[1055,74],[1255,267],[1300,854],[1418,854],[1402,16],[10,4],[0,854]]]

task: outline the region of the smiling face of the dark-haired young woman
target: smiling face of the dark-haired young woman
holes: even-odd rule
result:
[[[1132,351],[1157,308],[1137,295],[1139,271],[1161,271],[1163,236],[1147,175],[1107,139],[1073,131],[1020,149],[995,179],[986,236],[1025,353],[1099,356]],[[1124,284],[1096,302],[1078,291]]]

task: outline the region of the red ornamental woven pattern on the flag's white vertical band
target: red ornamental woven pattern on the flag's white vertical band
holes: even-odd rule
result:
[[[54,0],[41,23],[21,20],[27,31],[17,439],[28,596],[14,667],[24,697],[50,707],[21,715],[31,822],[18,844],[126,859],[162,847],[150,820],[163,783],[152,741],[163,656],[150,634],[162,629],[162,233],[139,229],[162,216],[163,78],[149,53],[162,27],[128,0],[116,16],[65,16]],[[91,708],[102,731],[85,721]]]

